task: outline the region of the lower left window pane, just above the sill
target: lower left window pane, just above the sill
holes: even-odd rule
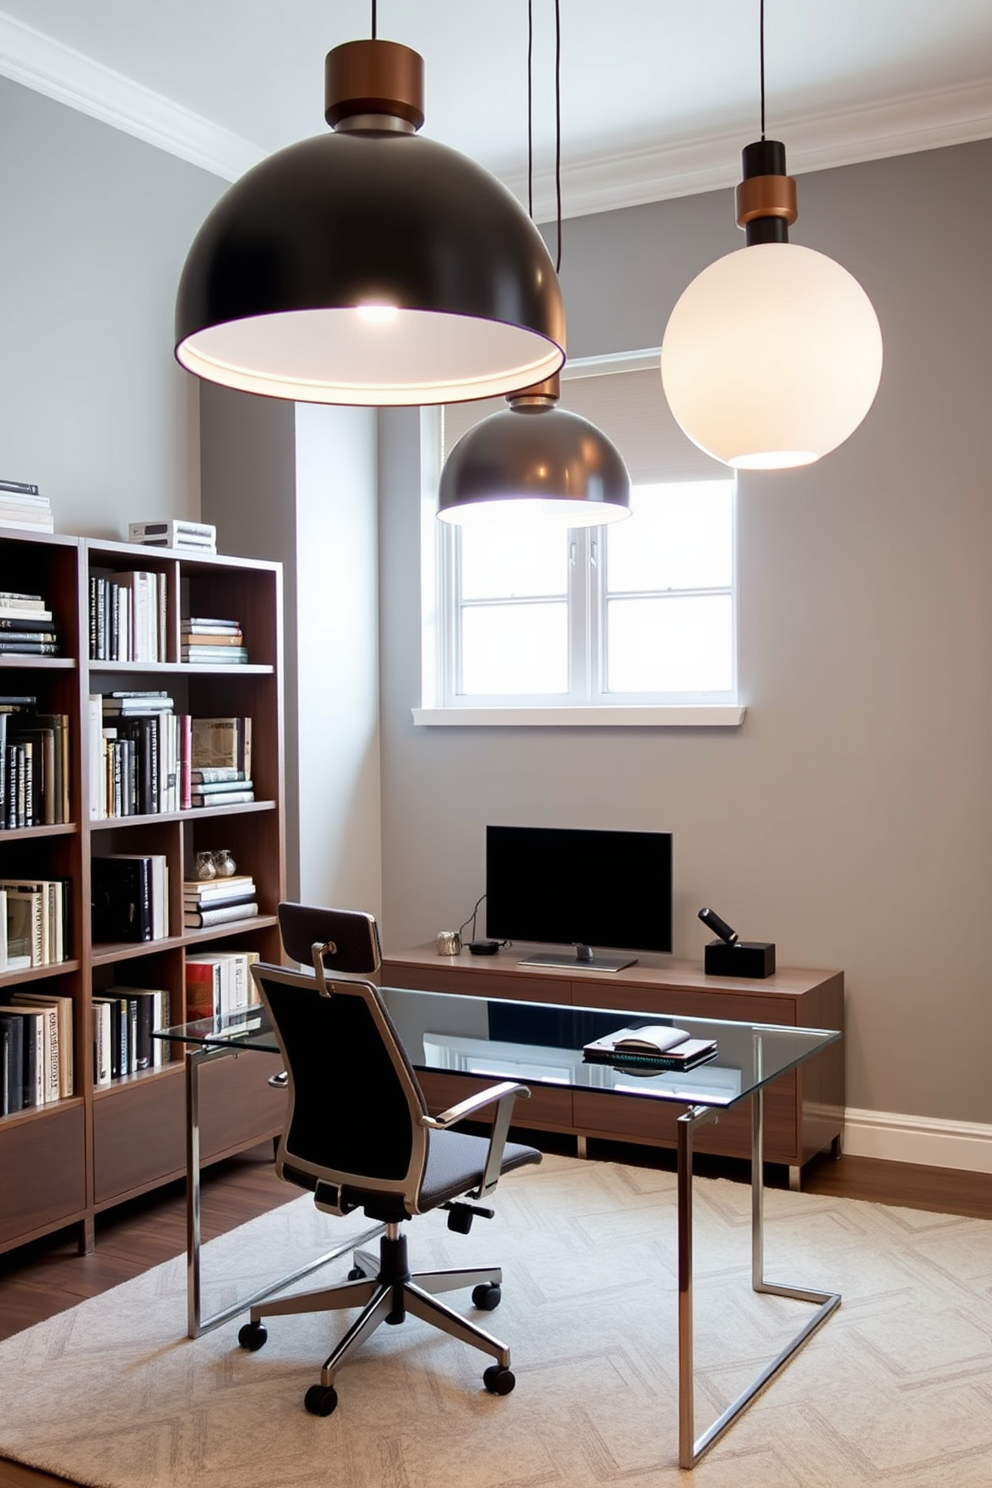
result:
[[[568,690],[565,604],[480,604],[461,612],[461,689],[470,696]]]

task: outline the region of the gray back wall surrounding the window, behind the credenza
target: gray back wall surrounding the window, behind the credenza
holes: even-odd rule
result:
[[[849,1104],[992,1120],[991,177],[982,141],[800,180],[793,238],[864,284],[885,371],[846,445],[741,481],[736,731],[415,729],[418,430],[384,415],[388,946],[470,912],[486,821],[669,829],[677,955],[709,903],[779,964],[842,967]],[[657,345],[735,247],[730,192],[567,222],[571,356]]]

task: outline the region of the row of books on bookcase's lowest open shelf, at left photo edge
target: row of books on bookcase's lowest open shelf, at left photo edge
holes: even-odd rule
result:
[[[0,1116],[73,1094],[73,1000],[18,990],[0,1004]]]

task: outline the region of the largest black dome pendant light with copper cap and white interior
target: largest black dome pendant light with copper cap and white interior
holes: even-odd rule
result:
[[[326,62],[333,132],[241,177],[199,229],[175,356],[309,403],[492,397],[553,375],[564,310],[544,241],[494,176],[421,138],[422,58],[375,39]]]

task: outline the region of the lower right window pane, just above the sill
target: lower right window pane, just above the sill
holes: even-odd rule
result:
[[[610,692],[729,692],[733,686],[730,595],[610,600]]]

